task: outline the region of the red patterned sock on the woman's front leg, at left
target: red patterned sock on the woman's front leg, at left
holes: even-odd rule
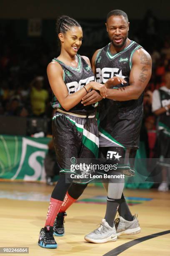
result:
[[[57,216],[61,205],[62,205],[62,201],[54,199],[52,197],[50,198],[50,205],[47,211],[45,226],[47,225],[53,226],[55,217]]]

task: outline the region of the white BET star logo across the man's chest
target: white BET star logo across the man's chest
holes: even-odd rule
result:
[[[125,76],[122,75],[122,70],[118,68],[97,68],[96,69],[96,81],[99,83],[105,83],[111,77],[121,77],[125,79]]]

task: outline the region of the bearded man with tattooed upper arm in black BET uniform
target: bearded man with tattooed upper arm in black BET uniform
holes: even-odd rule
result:
[[[108,84],[107,99],[92,90],[82,99],[82,104],[100,102],[99,132],[100,157],[116,160],[123,165],[122,172],[133,175],[136,151],[139,147],[140,127],[143,119],[143,91],[151,76],[152,61],[142,46],[128,38],[128,16],[122,10],[107,14],[106,28],[110,44],[95,52],[92,57],[93,72],[97,82]],[[112,77],[126,81],[116,88],[111,86]],[[129,169],[126,169],[129,166]],[[105,186],[106,187],[106,186]],[[85,236],[86,241],[105,243],[115,241],[122,234],[140,232],[136,216],[133,216],[122,194],[124,182],[109,180],[107,208],[100,228]],[[120,218],[114,219],[117,212]]]

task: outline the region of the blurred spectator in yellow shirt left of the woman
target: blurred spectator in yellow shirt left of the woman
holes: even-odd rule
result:
[[[43,89],[43,77],[36,77],[31,82],[31,108],[33,115],[43,117],[45,115],[46,102],[49,98],[47,90]]]

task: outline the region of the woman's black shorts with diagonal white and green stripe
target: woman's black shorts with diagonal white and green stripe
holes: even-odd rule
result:
[[[78,158],[98,156],[99,138],[95,114],[82,118],[80,115],[56,112],[52,118],[52,136],[61,173],[72,173],[68,161],[73,163]]]

